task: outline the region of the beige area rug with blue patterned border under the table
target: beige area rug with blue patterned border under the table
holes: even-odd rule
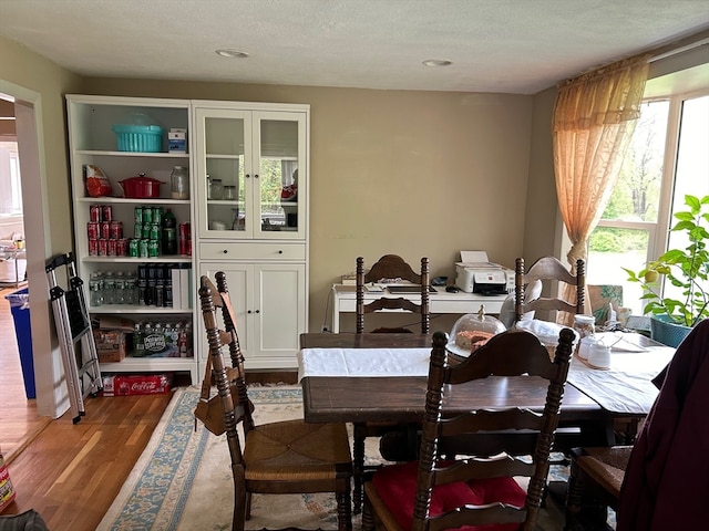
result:
[[[222,531],[232,529],[234,487],[225,436],[216,437],[202,425],[195,430],[193,410],[199,396],[195,386],[182,387],[104,516],[97,531]],[[255,421],[287,420],[302,416],[299,386],[249,388]],[[367,439],[367,462],[379,464],[377,439]],[[565,471],[553,473],[565,475]],[[353,518],[361,530],[361,518]],[[247,530],[337,529],[335,497],[281,494],[253,497]],[[537,531],[563,527],[555,503],[542,510]]]

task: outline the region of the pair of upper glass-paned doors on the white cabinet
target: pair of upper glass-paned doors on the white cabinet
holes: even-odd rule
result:
[[[307,108],[199,105],[195,106],[199,238],[305,240]]]

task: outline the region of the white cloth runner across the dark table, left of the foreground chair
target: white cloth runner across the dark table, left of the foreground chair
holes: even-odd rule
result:
[[[431,347],[302,348],[298,382],[306,376],[428,376]]]

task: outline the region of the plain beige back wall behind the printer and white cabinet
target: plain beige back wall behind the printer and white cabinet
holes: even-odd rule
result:
[[[523,252],[534,96],[114,79],[83,91],[310,104],[310,330],[358,256],[427,256],[452,278],[461,249],[510,266]]]

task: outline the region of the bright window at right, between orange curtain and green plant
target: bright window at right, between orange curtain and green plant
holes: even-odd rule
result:
[[[709,94],[647,100],[610,200],[588,244],[588,284],[623,285],[624,305],[643,313],[641,288],[623,267],[638,271],[669,248],[669,232],[685,195],[709,195]]]

